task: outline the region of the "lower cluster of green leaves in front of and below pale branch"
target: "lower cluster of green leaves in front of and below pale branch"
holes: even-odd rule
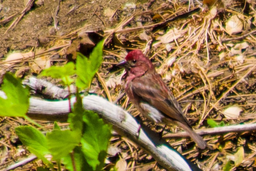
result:
[[[72,160],[77,170],[101,170],[107,155],[111,127],[104,124],[96,113],[84,111],[80,97],[77,97],[74,113],[69,115],[68,120],[72,130],[60,130],[55,122],[53,131],[46,137],[30,126],[19,126],[15,131],[28,150],[46,164],[50,162],[44,155],[51,154],[54,160],[62,160],[71,171]]]

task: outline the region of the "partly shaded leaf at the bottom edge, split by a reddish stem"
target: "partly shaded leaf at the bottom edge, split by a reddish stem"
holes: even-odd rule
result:
[[[89,164],[85,160],[80,146],[76,146],[75,149],[73,150],[73,157],[74,157],[77,171],[78,170],[93,171],[93,168],[89,166]],[[67,170],[73,171],[73,164],[72,164],[72,159],[70,154],[63,157],[62,161],[63,161],[62,163],[65,164],[65,167]]]

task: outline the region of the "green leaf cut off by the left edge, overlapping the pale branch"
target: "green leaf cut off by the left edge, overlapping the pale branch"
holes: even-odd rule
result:
[[[20,79],[6,73],[2,90],[7,98],[0,97],[0,116],[25,117],[29,107],[29,90],[22,87]]]

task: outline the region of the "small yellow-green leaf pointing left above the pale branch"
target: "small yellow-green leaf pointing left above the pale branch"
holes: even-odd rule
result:
[[[73,81],[70,76],[75,74],[75,64],[73,62],[69,62],[66,63],[64,66],[51,66],[50,68],[43,70],[39,76],[61,78],[66,85],[70,85]]]

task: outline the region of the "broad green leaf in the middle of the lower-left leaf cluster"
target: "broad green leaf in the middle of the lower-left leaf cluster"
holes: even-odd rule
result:
[[[67,156],[79,144],[81,133],[71,130],[53,130],[46,134],[49,151],[54,160]]]

